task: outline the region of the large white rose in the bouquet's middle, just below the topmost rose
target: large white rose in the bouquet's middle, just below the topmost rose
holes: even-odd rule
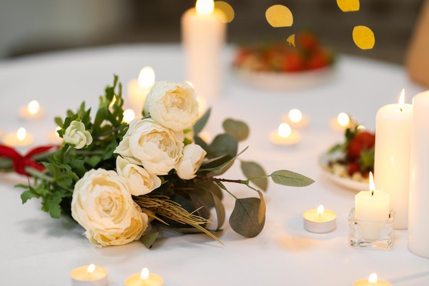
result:
[[[167,175],[182,156],[184,134],[161,126],[154,119],[134,119],[114,150],[149,174]]]

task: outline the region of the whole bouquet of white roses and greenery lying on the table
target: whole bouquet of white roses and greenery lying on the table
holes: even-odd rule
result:
[[[41,198],[42,210],[51,217],[71,215],[95,246],[140,239],[151,247],[160,226],[180,233],[206,233],[219,241],[215,233],[225,221],[221,200],[226,191],[236,199],[229,220],[232,229],[244,237],[258,235],[265,224],[259,189],[267,189],[267,178],[299,187],[313,181],[286,170],[266,175],[260,165],[245,161],[241,169],[246,180],[219,178],[245,151],[238,153],[238,141],[247,138],[249,129],[241,121],[227,119],[225,133],[207,143],[199,132],[210,110],[201,118],[197,112],[191,86],[156,82],[147,95],[143,119],[125,123],[121,84],[114,76],[93,120],[85,103],[77,112],[68,110],[64,120],[56,118],[64,141],[60,149],[34,158],[38,168],[25,167],[34,182],[19,185],[25,189],[23,202]],[[225,182],[244,184],[257,195],[236,198]],[[212,208],[217,226],[208,230]],[[148,228],[149,224],[154,227]]]

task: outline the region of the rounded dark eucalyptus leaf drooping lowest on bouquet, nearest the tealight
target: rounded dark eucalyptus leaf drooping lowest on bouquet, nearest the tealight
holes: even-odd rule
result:
[[[265,224],[265,212],[262,215],[261,203],[258,198],[236,200],[230,216],[231,228],[243,237],[259,235]]]

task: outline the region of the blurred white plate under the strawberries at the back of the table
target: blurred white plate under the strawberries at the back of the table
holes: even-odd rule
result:
[[[249,71],[233,68],[237,78],[258,88],[302,88],[328,82],[334,78],[335,68],[325,67],[311,71],[296,71],[290,73]]]

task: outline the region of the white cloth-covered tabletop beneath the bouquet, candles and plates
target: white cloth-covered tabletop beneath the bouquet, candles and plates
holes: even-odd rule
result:
[[[26,178],[1,175],[0,285],[71,285],[69,272],[89,263],[108,269],[110,286],[123,285],[127,276],[143,267],[162,276],[166,286],[346,286],[372,272],[393,285],[428,285],[429,259],[408,251],[406,230],[395,232],[391,250],[348,245],[347,214],[354,206],[356,191],[334,184],[317,165],[318,156],[343,139],[329,127],[330,119],[339,112],[349,113],[373,130],[378,108],[397,102],[402,88],[406,102],[424,88],[410,82],[404,68],[396,64],[340,56],[332,80],[270,91],[238,81],[228,68],[231,57],[232,49],[228,48],[224,93],[210,104],[212,117],[206,130],[217,134],[223,119],[241,119],[251,127],[249,139],[241,143],[241,148],[250,146],[243,160],[261,163],[267,173],[297,171],[315,179],[314,184],[305,188],[270,184],[265,193],[265,228],[252,239],[237,235],[225,223],[219,235],[224,246],[206,235],[168,235],[151,250],[139,241],[98,249],[71,219],[51,219],[40,211],[38,200],[23,206],[21,190],[13,186]],[[35,137],[34,145],[42,145],[55,127],[53,117],[64,117],[67,108],[75,110],[82,100],[96,109],[98,96],[112,83],[114,73],[124,87],[147,65],[154,67],[157,80],[182,81],[186,80],[183,62],[179,45],[119,45],[0,61],[0,130],[4,134],[25,126]],[[32,99],[45,108],[45,117],[19,119],[19,107]],[[272,145],[269,132],[291,108],[306,113],[310,126],[302,131],[299,145]],[[225,177],[243,175],[234,166]],[[239,197],[254,195],[241,186],[229,187]],[[225,195],[224,203],[229,215],[234,201]],[[302,214],[319,204],[338,215],[332,233],[304,230]]]

